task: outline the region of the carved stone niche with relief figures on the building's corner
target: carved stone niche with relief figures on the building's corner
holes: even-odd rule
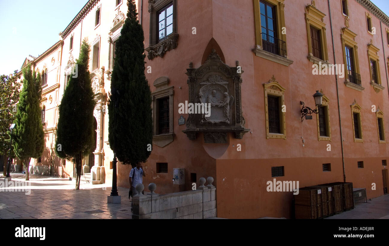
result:
[[[210,105],[209,114],[196,112],[188,116],[186,130],[191,140],[196,133],[204,134],[205,143],[227,143],[227,133],[235,133],[235,138],[242,139],[250,129],[244,127],[242,115],[241,84],[242,70],[229,67],[221,61],[220,56],[212,49],[205,63],[198,69],[189,64],[186,75],[189,87],[189,103],[199,109],[201,103]],[[189,106],[188,106],[189,107]]]

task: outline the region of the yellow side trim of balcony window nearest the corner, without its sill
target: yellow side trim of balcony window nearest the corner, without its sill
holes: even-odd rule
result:
[[[282,27],[285,27],[284,0],[264,0],[275,6],[277,18],[277,37],[281,37],[286,43],[286,34],[282,34]],[[255,19],[255,44],[259,49],[262,49],[261,36],[261,10],[259,9],[259,0],[253,0],[254,3],[254,19]],[[286,44],[285,44],[286,45]],[[287,49],[286,49],[287,50]]]

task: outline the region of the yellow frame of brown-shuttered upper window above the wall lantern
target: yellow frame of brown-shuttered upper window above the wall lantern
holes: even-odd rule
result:
[[[312,42],[311,42],[311,32],[310,27],[314,27],[320,30],[320,42],[322,49],[322,58],[324,62],[328,63],[328,51],[327,51],[327,38],[326,38],[326,24],[323,21],[323,18],[326,16],[323,12],[319,11],[315,7],[315,2],[312,1],[312,4],[308,4],[305,7],[305,21],[307,23],[307,37],[308,37],[308,60],[313,63],[317,63],[319,58],[314,58],[312,53]]]

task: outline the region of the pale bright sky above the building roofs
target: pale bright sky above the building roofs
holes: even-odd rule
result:
[[[9,75],[20,70],[29,54],[37,57],[58,42],[58,34],[87,2],[0,0],[0,74]],[[389,16],[389,0],[371,2]]]

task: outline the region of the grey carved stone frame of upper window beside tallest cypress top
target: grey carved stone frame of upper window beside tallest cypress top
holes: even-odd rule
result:
[[[158,43],[157,40],[157,13],[166,5],[173,3],[173,32],[165,40]],[[147,58],[154,59],[156,56],[163,57],[166,51],[175,49],[178,45],[177,33],[177,0],[149,0],[150,13],[150,39],[149,47],[145,48],[148,52]]]

